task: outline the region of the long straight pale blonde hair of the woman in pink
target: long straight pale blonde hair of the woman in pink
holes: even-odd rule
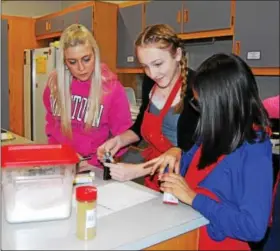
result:
[[[89,44],[94,53],[94,72],[91,79],[91,87],[88,97],[86,128],[90,128],[93,121],[96,121],[99,115],[99,108],[102,96],[102,74],[99,48],[91,32],[80,24],[72,24],[67,27],[59,42],[59,58],[56,67],[57,88],[51,84],[51,95],[56,100],[58,111],[61,116],[61,129],[67,135],[72,135],[71,127],[71,93],[70,84],[72,80],[71,72],[67,69],[64,59],[64,51],[69,47]]]

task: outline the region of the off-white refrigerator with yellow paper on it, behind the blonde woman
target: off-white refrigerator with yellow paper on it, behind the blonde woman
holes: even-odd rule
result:
[[[43,93],[49,73],[56,68],[58,49],[28,49],[24,55],[24,136],[36,143],[47,143]]]

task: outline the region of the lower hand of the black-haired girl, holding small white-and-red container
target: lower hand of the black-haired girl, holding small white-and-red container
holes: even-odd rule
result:
[[[196,193],[190,189],[184,177],[175,173],[162,175],[160,190],[175,195],[180,201],[192,206]]]

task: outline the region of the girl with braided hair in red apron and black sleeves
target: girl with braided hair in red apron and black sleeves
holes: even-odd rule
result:
[[[148,146],[143,151],[128,151],[122,162],[153,162],[175,146],[187,151],[195,142],[193,135],[199,113],[189,102],[193,97],[191,80],[194,72],[187,67],[182,41],[169,26],[157,24],[144,29],[135,42],[135,49],[145,72],[140,112],[129,130],[98,148],[100,160],[105,152],[115,155],[121,148],[142,139]],[[119,181],[150,173],[150,168],[141,164],[105,165],[110,167],[112,178]],[[153,179],[147,176],[145,185],[159,190],[157,176]]]

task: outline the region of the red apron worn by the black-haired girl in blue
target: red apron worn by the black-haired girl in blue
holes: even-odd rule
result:
[[[185,180],[196,193],[206,195],[213,200],[219,201],[219,198],[209,191],[208,189],[199,187],[199,183],[203,181],[207,175],[218,165],[218,163],[225,157],[221,156],[218,161],[205,169],[199,170],[197,168],[201,154],[201,147],[196,151],[190,167],[185,176]],[[207,233],[207,227],[203,226],[199,228],[199,242],[198,250],[250,250],[250,247],[247,242],[240,240],[226,238],[223,241],[214,241],[210,238]]]

